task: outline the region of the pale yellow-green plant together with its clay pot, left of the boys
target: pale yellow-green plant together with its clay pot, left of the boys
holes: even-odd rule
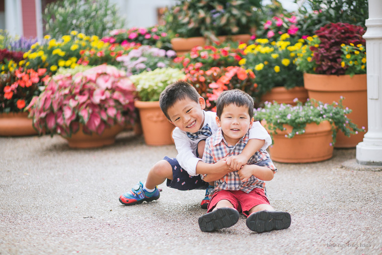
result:
[[[130,76],[135,86],[135,107],[139,110],[144,141],[148,145],[172,144],[174,125],[159,106],[161,92],[170,84],[184,79],[183,71],[175,68],[158,68]]]

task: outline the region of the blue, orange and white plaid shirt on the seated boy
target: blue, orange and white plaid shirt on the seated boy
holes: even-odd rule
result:
[[[249,132],[234,146],[228,145],[223,137],[221,128],[218,129],[216,134],[207,138],[203,161],[208,164],[213,164],[226,156],[236,156],[242,153],[244,147],[249,141]],[[266,150],[260,149],[257,151],[247,162],[248,165],[260,165],[265,166],[277,172],[276,166],[273,164]],[[204,178],[206,174],[202,175]],[[215,188],[210,193],[209,198],[216,190],[243,190],[246,193],[250,193],[254,188],[262,188],[265,190],[265,182],[251,176],[247,181],[243,182],[238,174],[238,171],[227,173],[224,177],[215,181]]]

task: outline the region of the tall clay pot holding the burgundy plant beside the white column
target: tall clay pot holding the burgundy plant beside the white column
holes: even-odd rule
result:
[[[304,74],[304,87],[308,90],[310,98],[324,103],[342,101],[345,107],[352,109],[348,117],[358,125],[364,126],[367,131],[367,83],[366,75],[315,75]],[[364,132],[346,137],[342,132],[337,134],[335,148],[353,148],[362,142]]]

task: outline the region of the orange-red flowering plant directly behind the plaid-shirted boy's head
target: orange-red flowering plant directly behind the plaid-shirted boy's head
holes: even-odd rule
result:
[[[241,67],[212,67],[207,71],[190,70],[185,80],[192,84],[206,101],[206,109],[216,111],[216,100],[225,90],[241,89],[256,100],[255,75]]]

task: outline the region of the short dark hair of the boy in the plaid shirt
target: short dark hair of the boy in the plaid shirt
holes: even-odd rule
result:
[[[246,106],[249,116],[253,117],[253,98],[246,92],[234,89],[221,92],[216,101],[216,115],[220,118],[225,106],[235,104],[236,106]]]

